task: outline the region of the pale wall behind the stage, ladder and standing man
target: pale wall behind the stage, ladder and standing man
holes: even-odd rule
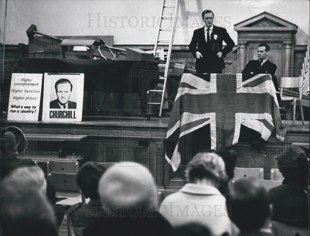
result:
[[[114,35],[116,45],[154,44],[161,4],[161,0],[7,0],[5,44],[28,44],[26,30],[31,24],[50,35]],[[5,0],[1,0],[2,43],[4,6]],[[215,25],[227,28],[235,42],[233,24],[268,11],[298,25],[296,44],[308,44],[307,0],[180,0],[174,44],[189,44],[193,30],[203,25],[201,12],[205,9],[215,13]]]

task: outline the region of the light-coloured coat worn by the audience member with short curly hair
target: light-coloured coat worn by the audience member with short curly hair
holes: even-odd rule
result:
[[[212,235],[232,233],[226,199],[210,185],[186,184],[163,200],[159,212],[172,226],[197,222],[211,230]]]

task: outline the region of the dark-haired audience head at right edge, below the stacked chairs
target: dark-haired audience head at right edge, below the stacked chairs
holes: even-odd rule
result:
[[[309,157],[298,146],[284,148],[278,156],[278,168],[287,182],[300,183],[308,181]]]

